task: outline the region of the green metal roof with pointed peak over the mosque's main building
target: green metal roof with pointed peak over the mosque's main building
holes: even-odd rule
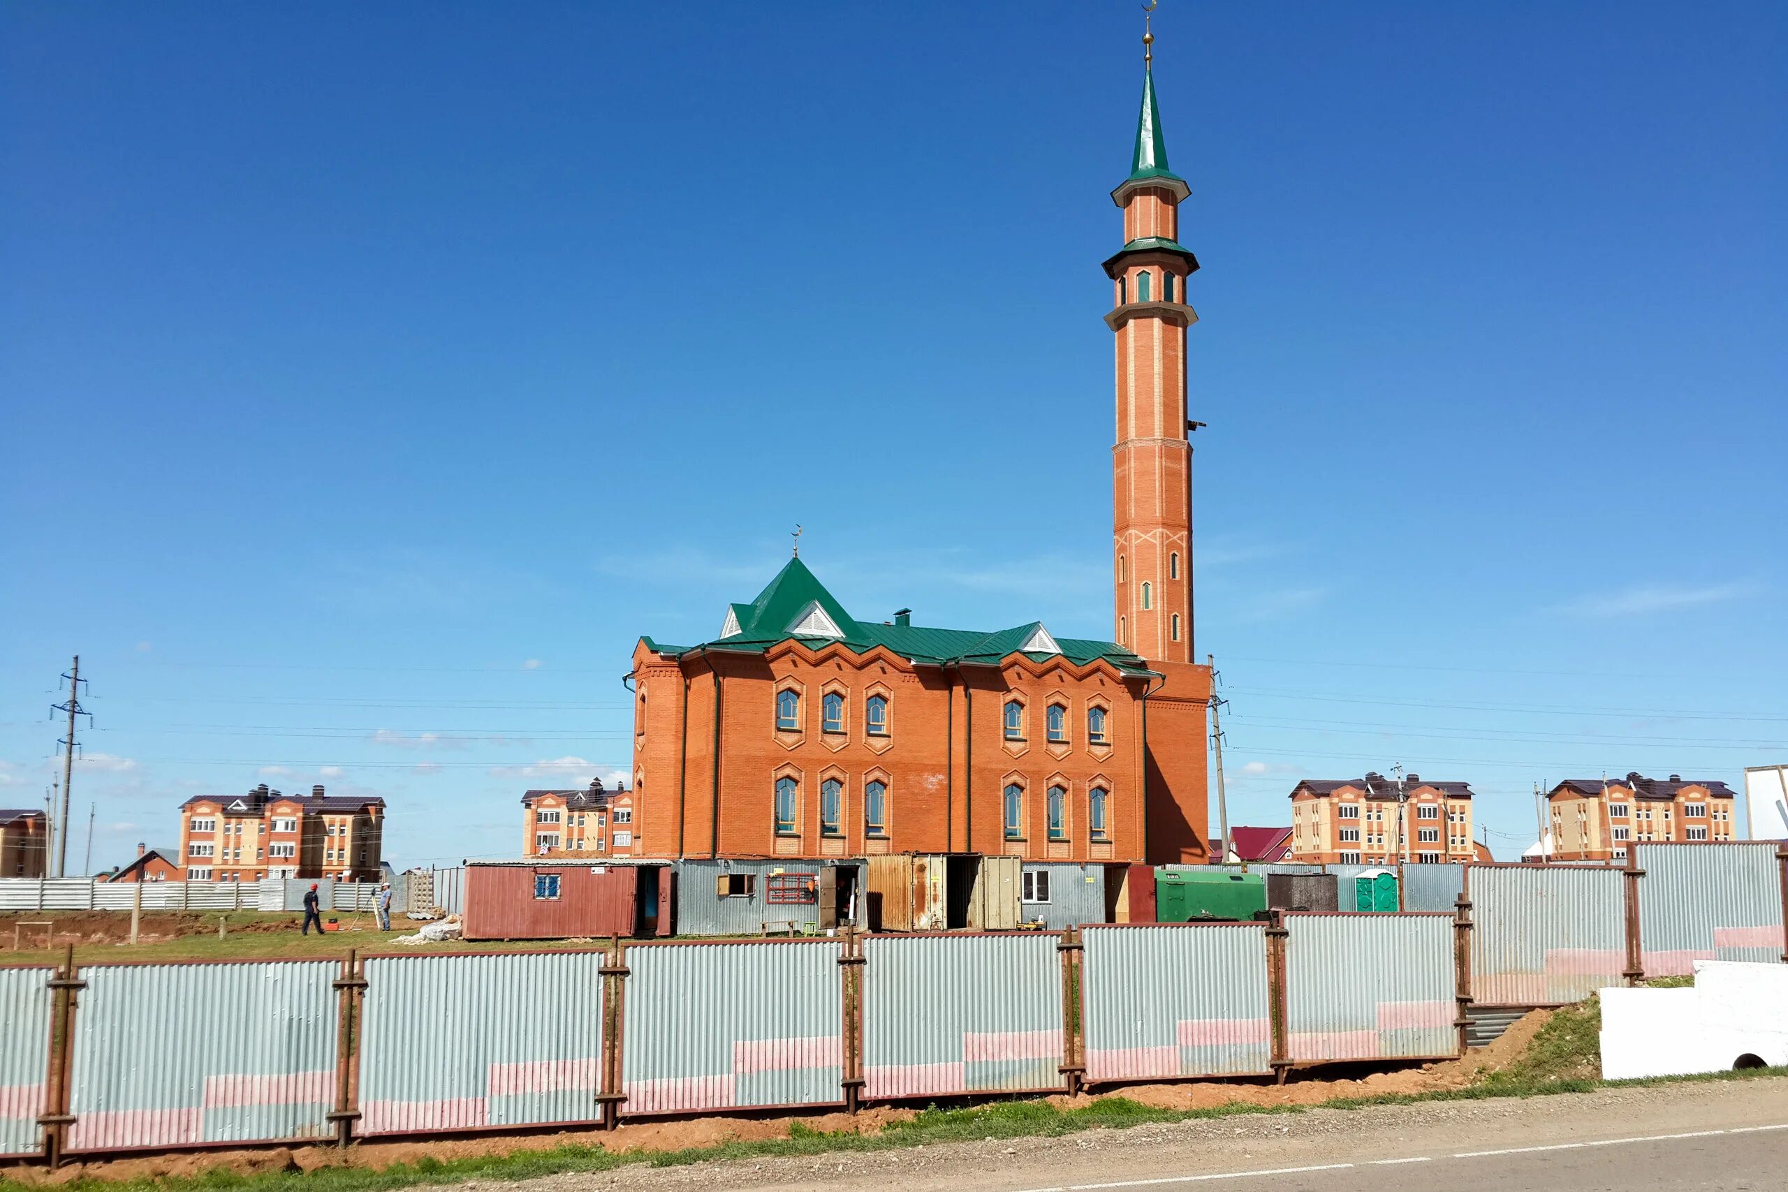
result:
[[[1114,642],[1057,638],[1035,620],[998,633],[860,622],[826,592],[801,559],[790,559],[751,604],[726,606],[721,636],[715,640],[697,645],[660,645],[645,638],[645,645],[669,656],[703,649],[762,654],[778,642],[790,640],[808,645],[840,642],[856,654],[867,654],[880,645],[908,661],[930,665],[996,667],[1012,654],[1037,661],[1060,654],[1082,667],[1103,658],[1125,676],[1153,674],[1146,661]]]

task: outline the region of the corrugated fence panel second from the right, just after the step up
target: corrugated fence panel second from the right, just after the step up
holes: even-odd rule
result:
[[[1618,869],[1473,865],[1473,1001],[1563,1004],[1620,985],[1627,965],[1625,881]]]

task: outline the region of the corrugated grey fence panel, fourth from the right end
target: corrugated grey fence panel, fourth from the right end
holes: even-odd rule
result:
[[[1087,928],[1087,1079],[1273,1070],[1266,924]]]

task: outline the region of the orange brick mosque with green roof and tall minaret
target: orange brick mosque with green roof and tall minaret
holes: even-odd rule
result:
[[[1153,71],[1123,247],[1103,263],[1116,347],[1112,636],[860,620],[796,558],[697,645],[633,652],[633,838],[644,856],[1007,854],[1207,860],[1209,667],[1193,661],[1185,332]],[[1091,445],[1087,456],[1091,457]],[[535,829],[538,831],[538,829]]]

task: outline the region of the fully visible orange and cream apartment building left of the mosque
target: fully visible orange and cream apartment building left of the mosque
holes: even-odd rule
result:
[[[336,877],[377,881],[384,799],[283,795],[266,783],[245,795],[181,804],[181,860],[190,881]]]

